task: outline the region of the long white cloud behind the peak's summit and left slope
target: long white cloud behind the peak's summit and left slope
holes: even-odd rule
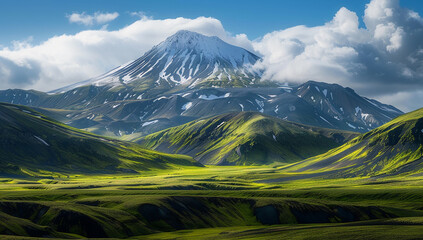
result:
[[[140,57],[182,29],[216,35],[232,44],[252,49],[245,35],[233,37],[214,18],[142,18],[117,31],[82,31],[75,35],[55,36],[39,45],[24,41],[16,42],[12,48],[3,48],[0,50],[0,79],[4,80],[0,81],[0,89],[48,91],[86,80]],[[14,73],[24,69],[33,76]],[[18,76],[22,78],[19,81],[16,80]]]

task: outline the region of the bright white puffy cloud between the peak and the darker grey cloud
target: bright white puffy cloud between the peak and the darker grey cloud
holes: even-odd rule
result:
[[[297,26],[266,34],[254,42],[263,55],[264,78],[304,82],[310,79],[343,82],[361,69],[352,46],[362,38],[355,13],[341,8],[334,19],[319,27]],[[319,79],[316,79],[319,78]]]

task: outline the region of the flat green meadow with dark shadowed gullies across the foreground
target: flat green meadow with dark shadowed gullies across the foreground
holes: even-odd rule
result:
[[[285,166],[0,179],[0,233],[38,238],[419,239],[423,176]]]

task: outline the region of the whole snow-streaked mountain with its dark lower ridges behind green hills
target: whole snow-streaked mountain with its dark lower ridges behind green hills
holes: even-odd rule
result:
[[[50,93],[4,90],[0,101],[36,107],[70,126],[129,140],[229,112],[256,111],[356,132],[403,114],[336,84],[266,81],[254,67],[257,61],[258,56],[217,37],[179,31],[139,59],[96,78]]]

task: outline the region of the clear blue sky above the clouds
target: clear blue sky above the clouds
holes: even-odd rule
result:
[[[118,29],[136,20],[130,12],[142,11],[155,19],[199,16],[219,19],[231,33],[245,33],[255,39],[273,30],[296,25],[317,26],[332,19],[346,7],[363,16],[368,0],[162,0],[162,1],[110,1],[110,0],[2,0],[0,8],[0,45],[33,37],[35,43],[61,34],[74,34],[86,27],[70,24],[66,15],[77,12],[118,12],[119,18],[109,24]],[[423,1],[402,0],[401,5],[423,12]],[[6,33],[6,34],[5,34]]]

